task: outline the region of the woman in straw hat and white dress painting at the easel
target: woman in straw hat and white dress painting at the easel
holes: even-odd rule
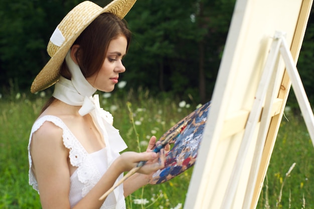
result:
[[[164,154],[119,152],[126,145],[99,107],[96,90],[110,92],[125,71],[121,60],[130,32],[121,19],[135,0],[116,0],[105,8],[76,6],[58,25],[47,47],[51,60],[33,82],[33,93],[55,84],[53,97],[35,121],[29,142],[30,184],[46,208],[125,208],[124,196],[148,183],[164,167]],[[169,150],[169,146],[167,147]],[[123,184],[105,193],[124,171],[147,163]]]

